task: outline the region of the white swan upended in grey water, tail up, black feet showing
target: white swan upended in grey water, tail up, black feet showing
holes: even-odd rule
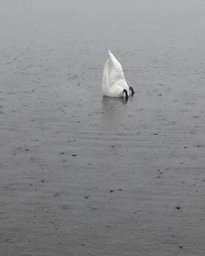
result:
[[[102,90],[103,95],[108,97],[123,97],[127,101],[130,95],[134,95],[132,86],[128,86],[121,63],[116,59],[110,50],[107,50],[109,58],[103,69]]]

